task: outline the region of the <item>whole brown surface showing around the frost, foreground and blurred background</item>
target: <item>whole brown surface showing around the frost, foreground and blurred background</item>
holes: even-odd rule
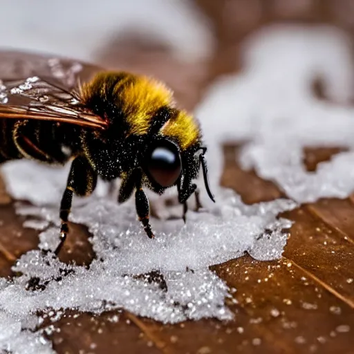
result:
[[[203,89],[215,77],[240,69],[236,62],[230,62],[230,51],[237,50],[241,39],[262,24],[279,19],[325,21],[351,31],[345,21],[337,19],[332,9],[334,1],[308,1],[313,4],[308,10],[292,16],[281,15],[283,12],[279,15],[277,1],[228,1],[228,6],[248,3],[249,11],[261,4],[261,14],[257,18],[248,17],[250,23],[246,25],[243,21],[243,27],[232,22],[236,20],[225,18],[216,1],[196,2],[215,28],[218,48],[214,57],[198,65],[196,74],[196,66],[180,64],[162,51],[158,53],[159,61],[169,63],[171,71],[161,73],[157,63],[149,68],[176,88],[180,102],[185,102],[188,108],[201,99]],[[138,47],[130,50],[142,53]],[[102,53],[102,63],[119,66],[113,60],[115,55],[119,53],[111,56]],[[144,55],[140,57],[143,62]],[[133,65],[138,66],[139,62]],[[194,76],[187,84],[190,73]],[[283,196],[277,186],[236,164],[236,148],[236,144],[225,146],[222,185],[241,194],[245,203]],[[328,160],[338,151],[336,147],[306,149],[304,161],[308,170],[314,171],[318,162]],[[38,239],[37,232],[21,226],[25,219],[15,215],[12,201],[3,189],[0,185],[3,221],[0,275],[5,277],[11,275],[10,266],[20,254],[37,247]],[[236,301],[228,300],[235,313],[234,322],[208,319],[162,325],[126,312],[119,314],[118,322],[112,322],[109,320],[112,313],[92,317],[68,312],[56,324],[60,332],[49,335],[55,350],[58,353],[354,353],[354,196],[303,205],[283,216],[295,224],[279,261],[260,262],[242,257],[212,268],[230,288],[236,288],[233,294]],[[73,227],[65,246],[70,253],[62,252],[61,258],[89,263],[93,254],[86,229],[80,225]],[[80,249],[73,248],[77,238],[83,241]]]

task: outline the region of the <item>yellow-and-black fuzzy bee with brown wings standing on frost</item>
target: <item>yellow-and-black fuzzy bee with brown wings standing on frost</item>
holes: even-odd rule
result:
[[[83,80],[84,79],[84,80]],[[178,109],[162,82],[104,71],[70,59],[0,51],[0,163],[28,158],[49,165],[71,160],[60,203],[57,255],[69,232],[73,196],[89,196],[97,177],[121,178],[118,203],[135,194],[136,213],[153,238],[144,188],[177,187],[184,205],[200,169],[207,194],[201,129]]]

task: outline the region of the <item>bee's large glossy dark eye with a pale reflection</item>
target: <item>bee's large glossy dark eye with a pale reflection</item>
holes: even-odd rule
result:
[[[168,147],[156,147],[151,153],[147,165],[151,177],[162,187],[171,187],[176,183],[182,169],[178,151]]]

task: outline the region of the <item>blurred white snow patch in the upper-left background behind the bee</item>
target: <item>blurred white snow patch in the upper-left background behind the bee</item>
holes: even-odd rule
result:
[[[207,20],[188,0],[3,0],[1,14],[1,46],[89,62],[129,30],[162,41],[183,60],[203,59],[214,48]]]

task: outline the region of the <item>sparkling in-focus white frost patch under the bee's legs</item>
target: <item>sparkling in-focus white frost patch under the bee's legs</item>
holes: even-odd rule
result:
[[[12,194],[33,204],[16,205],[18,214],[29,217],[25,225],[47,226],[39,235],[44,250],[57,245],[59,191],[66,183],[65,172],[26,160],[3,167]],[[50,184],[53,193],[48,193]],[[165,323],[232,319],[225,306],[228,288],[209,266],[245,252],[257,259],[279,258],[287,239],[281,230],[291,223],[277,215],[295,207],[286,199],[244,205],[239,196],[225,190],[220,194],[222,202],[207,211],[189,211],[185,225],[180,218],[152,218],[156,239],[150,240],[136,220],[133,199],[118,205],[115,198],[102,194],[75,198],[71,214],[71,221],[86,225],[93,235],[96,257],[89,269],[62,263],[51,253],[27,252],[13,267],[22,275],[1,283],[0,313],[21,323],[48,308],[90,313],[124,308]],[[29,280],[39,290],[26,290]]]

